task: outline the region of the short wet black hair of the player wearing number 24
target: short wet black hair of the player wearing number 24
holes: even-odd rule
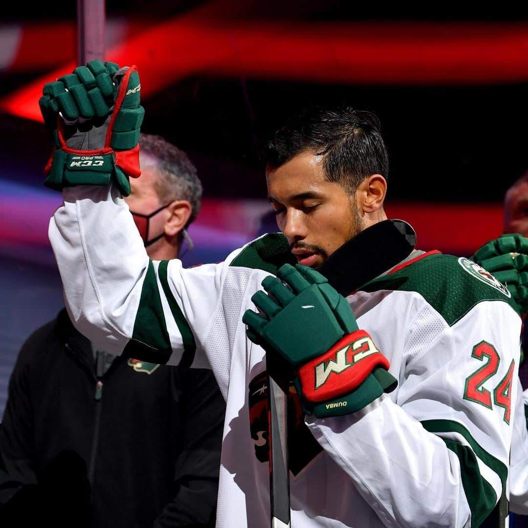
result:
[[[372,174],[388,176],[380,121],[368,111],[350,106],[308,108],[265,140],[261,154],[267,164],[280,167],[306,150],[324,156],[327,180],[350,192]]]

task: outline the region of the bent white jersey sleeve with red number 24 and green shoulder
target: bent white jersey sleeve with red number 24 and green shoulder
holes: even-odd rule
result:
[[[385,526],[479,526],[505,496],[521,320],[452,261],[446,275],[461,285],[442,293],[435,268],[449,256],[435,257],[349,297],[397,390],[360,412],[307,420]],[[429,291],[411,284],[420,267]]]

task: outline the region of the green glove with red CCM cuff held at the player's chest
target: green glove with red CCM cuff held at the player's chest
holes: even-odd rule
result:
[[[258,291],[251,298],[263,315],[246,310],[242,320],[251,341],[297,370],[296,388],[308,413],[348,414],[395,389],[389,361],[325,277],[289,264],[277,277],[262,281],[268,295]]]

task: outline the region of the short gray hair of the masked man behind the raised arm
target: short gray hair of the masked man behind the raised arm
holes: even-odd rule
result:
[[[155,190],[163,202],[187,200],[191,204],[191,216],[185,227],[194,221],[202,206],[202,182],[187,154],[168,143],[161,136],[139,135],[139,148],[142,155],[154,159],[159,173]]]

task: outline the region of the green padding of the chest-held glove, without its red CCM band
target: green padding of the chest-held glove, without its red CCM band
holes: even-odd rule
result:
[[[262,281],[268,295],[258,291],[252,297],[263,315],[246,310],[242,318],[248,325],[250,340],[261,345],[268,354],[280,354],[298,368],[327,353],[343,337],[357,334],[356,319],[347,300],[317,271],[286,264],[278,270],[277,277],[266,277]],[[350,370],[343,370],[348,376],[355,366],[352,363],[347,366]],[[323,418],[362,409],[396,386],[393,376],[381,367],[375,367],[362,378],[353,390],[344,390],[340,397],[322,402],[314,402],[312,388],[301,386],[299,379],[296,387],[305,411]],[[312,401],[308,400],[308,393]]]

